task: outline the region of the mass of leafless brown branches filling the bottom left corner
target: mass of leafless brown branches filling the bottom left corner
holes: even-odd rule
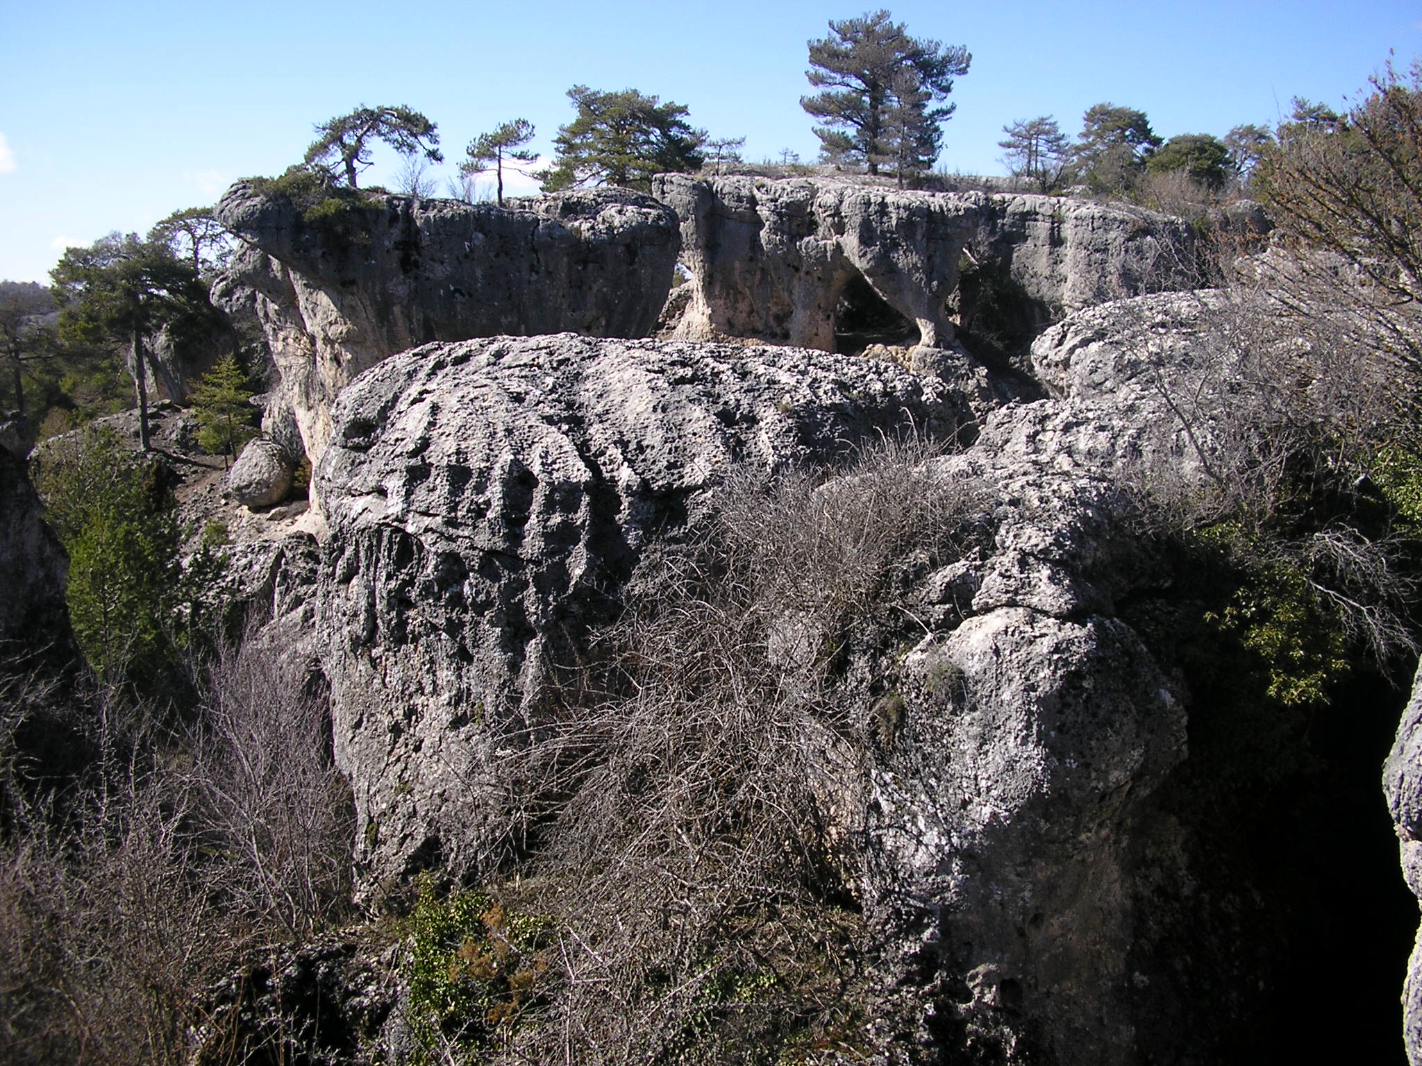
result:
[[[323,695],[277,650],[228,650],[183,735],[91,708],[88,772],[10,790],[0,1059],[179,1063],[243,949],[338,917],[348,797]]]

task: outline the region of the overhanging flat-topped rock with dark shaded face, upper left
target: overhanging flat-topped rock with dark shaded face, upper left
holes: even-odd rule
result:
[[[678,249],[675,216],[620,189],[505,208],[371,193],[307,220],[287,198],[237,182],[218,215],[249,247],[213,300],[262,323],[313,462],[340,388],[397,351],[496,334],[648,334]]]

